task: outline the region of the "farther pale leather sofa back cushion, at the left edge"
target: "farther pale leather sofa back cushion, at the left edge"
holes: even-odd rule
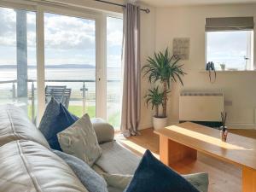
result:
[[[0,106],[0,146],[20,139],[40,143],[49,148],[43,134],[21,108],[10,104]]]

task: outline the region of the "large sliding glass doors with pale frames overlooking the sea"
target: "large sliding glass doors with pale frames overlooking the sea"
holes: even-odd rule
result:
[[[24,108],[38,124],[55,96],[75,115],[89,113],[119,128],[120,15],[57,5],[9,6],[0,7],[0,104]]]

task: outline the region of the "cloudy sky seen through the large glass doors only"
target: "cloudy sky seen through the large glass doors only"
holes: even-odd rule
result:
[[[28,65],[36,65],[36,14],[27,14]],[[44,14],[45,65],[96,65],[95,20]],[[108,18],[108,67],[120,67],[123,21]],[[16,64],[16,13],[0,8],[0,65]]]

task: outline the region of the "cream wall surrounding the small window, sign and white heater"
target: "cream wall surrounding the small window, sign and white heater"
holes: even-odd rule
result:
[[[220,90],[224,92],[228,124],[233,128],[254,128],[256,108],[256,72],[219,72],[211,84],[205,67],[205,18],[254,16],[256,4],[214,5],[157,8],[155,10],[155,49],[172,50],[173,38],[190,38],[189,61],[182,61],[184,86],[173,84],[168,102],[169,123],[178,121],[178,98],[181,90]],[[255,38],[254,38],[255,39]],[[254,49],[255,50],[255,49]],[[255,58],[255,57],[254,57]]]

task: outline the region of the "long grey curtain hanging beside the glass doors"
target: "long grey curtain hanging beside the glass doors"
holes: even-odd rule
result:
[[[131,3],[124,11],[124,65],[121,131],[125,137],[137,134],[140,120],[140,8]]]

